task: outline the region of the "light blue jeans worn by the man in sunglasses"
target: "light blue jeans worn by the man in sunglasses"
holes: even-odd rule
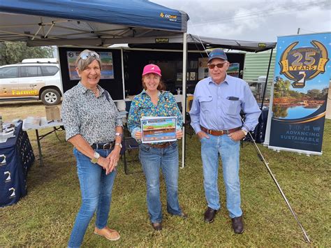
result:
[[[203,177],[205,197],[208,207],[219,210],[219,189],[217,184],[219,154],[223,166],[223,180],[226,186],[226,207],[230,218],[242,216],[240,208],[239,155],[240,141],[234,141],[227,135],[203,138],[201,157],[203,160]]]

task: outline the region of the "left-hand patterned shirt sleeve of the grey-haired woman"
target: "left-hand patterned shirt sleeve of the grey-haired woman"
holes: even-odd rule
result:
[[[80,133],[80,118],[75,106],[75,97],[71,97],[70,92],[64,94],[61,105],[61,117],[66,129],[66,140]]]

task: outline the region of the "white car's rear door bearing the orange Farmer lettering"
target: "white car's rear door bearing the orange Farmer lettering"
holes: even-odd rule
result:
[[[43,86],[45,86],[45,78],[41,73],[41,66],[20,66],[21,96],[39,96]]]

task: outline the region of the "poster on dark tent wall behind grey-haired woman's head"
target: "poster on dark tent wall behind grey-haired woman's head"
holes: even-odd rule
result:
[[[101,59],[101,79],[114,79],[114,68],[112,66],[112,53],[111,52],[97,52]],[[80,52],[68,51],[66,57],[68,61],[68,71],[70,80],[80,80],[76,70],[75,61]]]

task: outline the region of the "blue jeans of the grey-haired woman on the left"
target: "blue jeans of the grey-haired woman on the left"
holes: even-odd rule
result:
[[[96,152],[105,157],[111,150],[96,149]],[[105,175],[105,170],[101,166],[91,163],[91,159],[78,149],[74,148],[73,154],[77,160],[82,205],[75,219],[68,247],[80,247],[94,212],[96,212],[96,227],[102,229],[107,226],[116,170]]]

